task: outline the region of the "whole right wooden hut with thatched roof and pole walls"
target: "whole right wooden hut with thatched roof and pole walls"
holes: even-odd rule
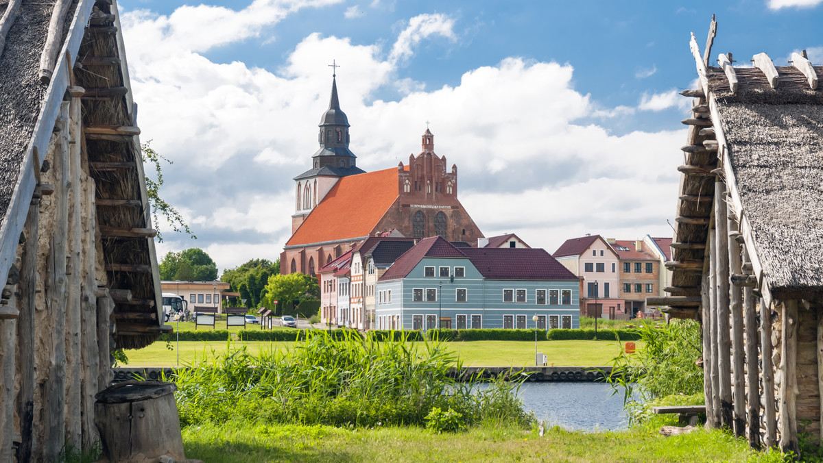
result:
[[[716,30],[702,56],[691,35],[700,88],[682,92],[671,295],[656,299],[702,322],[709,427],[797,452],[798,424],[823,423],[823,67],[805,51],[709,66]]]

